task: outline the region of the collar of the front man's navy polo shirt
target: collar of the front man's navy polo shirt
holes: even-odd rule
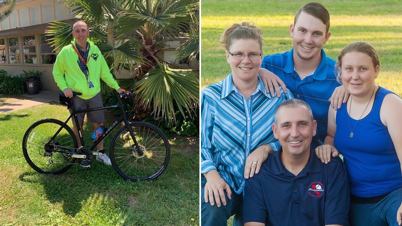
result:
[[[281,152],[283,152],[282,147],[275,152],[273,160],[271,162],[271,173],[274,175],[281,175],[287,173],[287,169],[282,163]],[[310,157],[308,158],[307,166],[297,175],[297,177],[306,176],[306,173],[318,173],[321,172],[321,160],[316,156],[316,153],[312,148],[310,148]]]

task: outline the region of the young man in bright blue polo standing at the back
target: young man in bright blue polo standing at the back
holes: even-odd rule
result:
[[[265,56],[261,68],[272,73],[264,69],[258,73],[265,84],[268,82],[270,86],[277,86],[278,80],[282,87],[286,85],[296,99],[310,105],[318,125],[317,135],[312,141],[313,148],[324,144],[327,135],[328,99],[332,93],[338,92],[339,95],[343,92],[339,98],[342,103],[345,95],[345,89],[336,80],[336,62],[327,57],[322,49],[331,35],[329,27],[329,12],[322,4],[310,2],[304,5],[297,11],[294,24],[290,25],[290,37],[293,40],[291,51]],[[334,92],[338,86],[340,88]],[[273,95],[273,88],[269,90]]]

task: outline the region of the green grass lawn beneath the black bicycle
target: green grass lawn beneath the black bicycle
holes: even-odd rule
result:
[[[170,137],[170,163],[153,181],[124,180],[97,161],[61,175],[37,173],[22,153],[26,129],[42,118],[67,117],[66,107],[54,103],[0,114],[0,225],[199,225],[197,138]],[[105,124],[113,121],[107,113]],[[86,142],[91,127],[84,127]]]

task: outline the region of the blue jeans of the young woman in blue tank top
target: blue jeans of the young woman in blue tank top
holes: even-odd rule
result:
[[[350,226],[398,226],[396,212],[401,201],[402,188],[396,189],[378,203],[351,202],[349,224]]]

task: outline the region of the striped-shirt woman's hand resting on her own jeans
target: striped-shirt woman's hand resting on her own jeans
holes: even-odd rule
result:
[[[207,183],[204,187],[204,200],[209,204],[220,207],[221,202],[223,205],[226,205],[225,191],[226,195],[228,195],[228,199],[232,199],[232,191],[230,190],[230,186],[222,177],[219,175],[218,171],[211,170],[207,173],[204,173],[205,179],[207,179]],[[225,191],[224,191],[225,190]],[[215,197],[215,201],[214,198]]]

